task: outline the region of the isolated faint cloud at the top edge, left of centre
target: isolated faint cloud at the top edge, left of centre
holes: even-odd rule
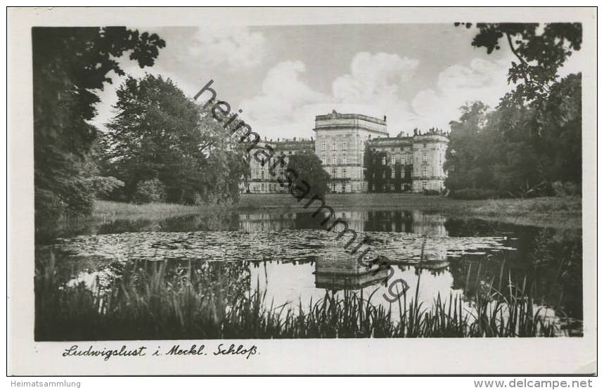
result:
[[[247,27],[200,27],[188,54],[201,67],[225,66],[229,72],[262,63],[266,39]]]

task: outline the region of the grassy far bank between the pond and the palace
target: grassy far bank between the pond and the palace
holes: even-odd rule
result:
[[[532,199],[455,200],[440,196],[419,194],[373,193],[330,194],[326,204],[334,209],[401,209],[440,212],[456,218],[477,218],[520,225],[548,228],[581,228],[581,198],[536,197]],[[205,214],[239,210],[297,211],[305,202],[297,202],[287,194],[245,194],[238,204],[221,206],[169,203],[131,204],[124,202],[95,202],[92,219],[161,219],[168,216]],[[316,206],[311,206],[315,209]]]

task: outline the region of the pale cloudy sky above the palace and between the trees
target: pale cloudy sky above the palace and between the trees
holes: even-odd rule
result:
[[[386,115],[391,136],[449,131],[466,102],[492,108],[512,88],[508,46],[489,55],[471,45],[476,29],[452,24],[129,28],[159,34],[166,47],[144,69],[122,56],[127,74],[161,74],[191,98],[212,79],[217,98],[269,139],[310,138],[314,117],[332,110]],[[579,72],[582,61],[573,53],[560,74]],[[123,82],[109,77],[94,119],[100,129]]]

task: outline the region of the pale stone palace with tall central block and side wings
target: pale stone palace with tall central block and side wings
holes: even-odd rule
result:
[[[335,110],[317,115],[313,130],[316,139],[265,139],[264,146],[250,150],[253,156],[257,150],[269,147],[274,156],[285,156],[284,164],[275,168],[276,174],[271,174],[270,163],[262,164],[262,159],[251,157],[250,179],[242,191],[283,192],[276,177],[285,169],[288,156],[313,152],[330,176],[332,193],[444,190],[443,164],[449,138],[441,130],[422,133],[415,129],[413,136],[400,133],[390,137],[386,117],[340,114]]]

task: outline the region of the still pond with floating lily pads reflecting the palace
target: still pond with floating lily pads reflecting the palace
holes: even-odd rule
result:
[[[165,264],[170,275],[198,279],[215,292],[261,291],[264,304],[308,307],[326,292],[363,294],[389,308],[394,280],[406,301],[430,309],[437,299],[461,299],[475,313],[479,297],[532,299],[558,336],[582,335],[580,230],[555,230],[445,217],[419,210],[338,209],[364,248],[387,259],[368,268],[345,250],[347,236],[319,226],[311,212],[219,213],[167,219],[91,221],[67,226],[37,245],[37,260],[53,256],[61,288],[109,289],[131,264]],[[394,286],[392,286],[394,287]]]

